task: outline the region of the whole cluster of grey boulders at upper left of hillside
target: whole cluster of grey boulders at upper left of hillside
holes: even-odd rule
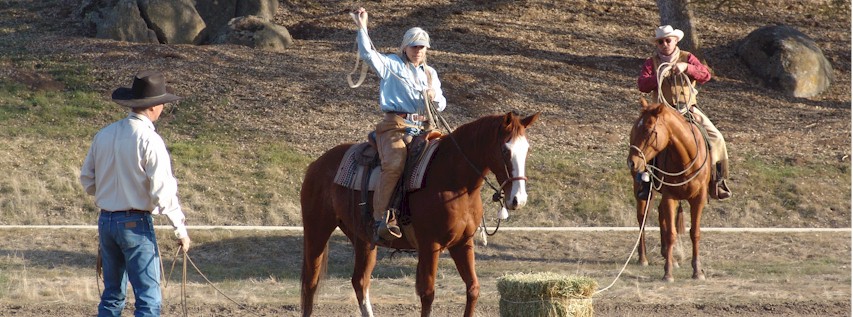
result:
[[[99,38],[281,51],[293,39],[271,22],[276,10],[277,0],[83,0],[76,13]]]

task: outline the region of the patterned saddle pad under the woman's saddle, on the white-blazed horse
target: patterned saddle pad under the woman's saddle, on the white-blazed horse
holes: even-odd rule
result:
[[[423,157],[417,162],[417,165],[412,168],[411,175],[404,175],[404,177],[408,176],[407,186],[409,191],[414,191],[423,187],[426,170],[429,166],[429,162],[432,160],[432,156],[435,155],[435,150],[438,148],[438,141],[439,140],[430,141]],[[361,155],[368,146],[370,146],[370,144],[367,142],[359,143],[351,146],[349,150],[344,153],[343,158],[341,158],[341,163],[338,166],[338,172],[335,174],[335,184],[354,190],[362,190],[361,187],[364,184],[362,178],[364,177],[364,169],[367,167],[359,165],[356,161],[356,157]],[[370,180],[368,181],[367,190],[376,190],[376,185],[379,182],[380,169],[381,167],[377,166],[370,171]]]

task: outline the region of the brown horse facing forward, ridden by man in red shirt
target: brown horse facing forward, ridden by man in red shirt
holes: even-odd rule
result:
[[[663,279],[669,282],[674,280],[673,246],[676,243],[677,225],[683,228],[678,202],[687,200],[690,204],[690,240],[693,242],[693,278],[704,280],[705,273],[699,261],[699,221],[708,201],[708,184],[711,180],[711,161],[705,139],[696,124],[685,120],[672,107],[648,104],[645,99],[641,99],[640,104],[642,109],[631,128],[631,148],[628,152],[628,168],[635,179],[637,221],[642,230],[647,205],[653,198],[651,194],[648,197],[638,197],[636,194],[639,189],[637,174],[647,171],[651,174],[652,187],[661,194],[658,221],[661,255],[666,260]],[[647,265],[643,232],[639,254],[640,263]]]

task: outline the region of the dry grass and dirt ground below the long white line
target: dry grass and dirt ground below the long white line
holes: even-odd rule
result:
[[[296,231],[195,231],[194,262],[226,296],[190,275],[190,316],[297,316],[302,243]],[[12,272],[11,285],[35,287],[36,298],[0,298],[0,316],[86,316],[97,305],[94,290],[76,298],[69,284],[94,289],[96,242],[88,230],[0,231],[0,267]],[[481,284],[476,316],[498,316],[501,295],[496,279],[508,273],[549,271],[582,275],[605,289],[617,278],[636,241],[635,231],[499,231],[486,246],[477,245]],[[720,232],[703,234],[700,259],[705,281],[690,278],[690,241],[679,239],[688,258],[680,261],[676,281],[665,283],[660,257],[639,266],[636,255],[612,287],[593,297],[598,316],[850,316],[850,232]],[[658,250],[657,232],[648,246]],[[251,248],[246,247],[251,245]],[[164,245],[167,271],[173,246]],[[318,292],[316,316],[357,316],[350,286],[352,248],[341,234],[330,244],[329,273]],[[371,301],[378,316],[418,315],[414,290],[415,258],[382,249],[373,272]],[[26,261],[13,261],[26,259]],[[22,263],[23,262],[23,263]],[[254,268],[254,269],[251,269]],[[36,275],[48,276],[40,281]],[[54,277],[50,277],[54,276]],[[74,277],[79,281],[74,282]],[[82,276],[82,277],[81,277]],[[265,282],[268,280],[274,282]],[[177,275],[164,294],[164,316],[181,316]],[[238,283],[235,281],[243,281]],[[436,277],[433,316],[459,316],[465,286],[445,255]],[[92,293],[94,292],[94,293]],[[52,295],[50,295],[52,294]],[[130,315],[130,311],[126,312]]]

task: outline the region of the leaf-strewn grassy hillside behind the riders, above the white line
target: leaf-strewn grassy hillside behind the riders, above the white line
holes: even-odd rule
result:
[[[700,103],[726,136],[735,196],[711,202],[703,224],[849,227],[849,4],[719,3],[729,2],[694,9],[715,72]],[[452,125],[542,112],[529,131],[531,205],[510,225],[635,223],[624,161],[643,96],[636,75],[658,21],[653,2],[283,0],[276,22],[295,39],[284,53],[94,39],[79,27],[77,5],[0,4],[0,83],[14,100],[0,106],[9,135],[0,142],[0,173],[9,175],[0,179],[0,224],[93,221],[77,169],[94,132],[123,115],[108,101],[112,89],[155,68],[187,97],[158,130],[172,150],[192,224],[298,225],[306,164],[338,143],[361,141],[379,118],[375,76],[357,89],[346,84],[355,61],[346,10],[357,5],[370,12],[381,51],[393,51],[408,27],[430,32],[429,63],[442,79]],[[740,62],[738,40],[774,23],[816,40],[834,68],[830,90],[785,97]],[[53,82],[58,91],[44,84]],[[38,97],[43,91],[50,91],[46,100]],[[86,110],[92,113],[59,112],[76,100],[75,91],[100,97]],[[29,131],[55,124],[32,119],[39,111],[61,113],[59,125],[79,130]],[[487,208],[492,215],[494,207]]]

